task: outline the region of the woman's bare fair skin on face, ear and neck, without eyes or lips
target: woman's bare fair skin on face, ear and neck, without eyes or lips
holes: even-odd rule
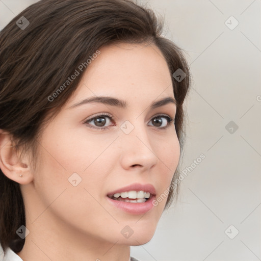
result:
[[[26,208],[30,233],[18,253],[24,261],[128,261],[129,246],[149,242],[163,213],[167,197],[145,215],[134,215],[109,204],[106,195],[139,182],[152,184],[158,197],[170,185],[180,156],[175,126],[161,129],[152,118],[175,118],[176,106],[149,109],[155,100],[174,98],[167,63],[153,45],[122,43],[100,51],[75,93],[45,126],[37,171],[29,157],[18,160],[8,134],[0,136],[0,167],[20,183]],[[69,108],[101,95],[123,99],[128,107],[89,103]],[[84,123],[102,113],[114,118],[106,118],[105,131],[94,121]],[[166,126],[167,120],[160,119]],[[126,120],[134,126],[129,134],[120,128]],[[82,178],[76,187],[68,181],[74,172]],[[121,234],[126,225],[134,231],[128,239]]]

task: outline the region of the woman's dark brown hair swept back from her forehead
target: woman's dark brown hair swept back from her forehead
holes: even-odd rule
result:
[[[24,18],[20,21],[21,16],[29,24]],[[27,27],[20,28],[18,19]],[[50,102],[48,97],[75,69],[102,46],[117,42],[152,43],[162,51],[172,77],[177,101],[175,128],[182,152],[183,103],[190,87],[190,72],[181,49],[162,37],[162,31],[163,19],[131,0],[42,0],[31,5],[0,32],[0,129],[13,138],[15,150],[32,152],[35,162],[44,122],[65,105],[86,68],[59,93],[59,98]],[[186,73],[184,80],[177,81],[172,76],[177,69]],[[172,182],[178,175],[179,168]],[[165,208],[178,187],[170,189]],[[1,170],[0,211],[0,244],[4,251],[10,247],[19,252],[24,240],[16,230],[25,225],[24,203],[20,185]]]

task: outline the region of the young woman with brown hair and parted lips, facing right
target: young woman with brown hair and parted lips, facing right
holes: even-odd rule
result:
[[[0,32],[4,260],[136,260],[151,240],[190,87],[162,27],[128,0],[44,0]]]

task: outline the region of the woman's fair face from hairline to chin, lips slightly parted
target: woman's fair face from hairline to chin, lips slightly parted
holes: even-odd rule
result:
[[[100,96],[122,100],[125,107],[115,100],[82,102]],[[170,186],[180,154],[175,126],[165,117],[175,118],[175,104],[151,108],[166,97],[174,99],[171,75],[157,47],[100,48],[73,96],[44,128],[41,167],[32,182],[37,196],[23,195],[25,205],[38,206],[27,213],[29,220],[58,221],[74,233],[112,243],[148,242],[167,196],[157,206],[152,199]],[[155,195],[143,203],[121,201],[136,198],[135,192],[123,193],[120,200],[108,197],[141,190]]]

